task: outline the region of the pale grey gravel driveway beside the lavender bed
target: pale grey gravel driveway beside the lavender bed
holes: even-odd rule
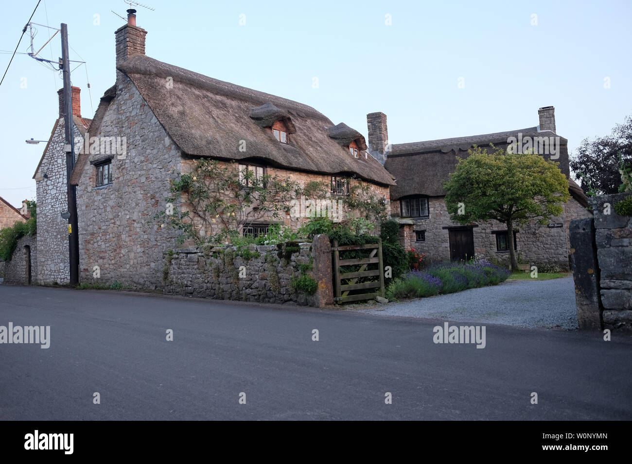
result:
[[[494,287],[389,302],[356,311],[380,316],[504,324],[528,328],[577,328],[573,277],[506,280]]]

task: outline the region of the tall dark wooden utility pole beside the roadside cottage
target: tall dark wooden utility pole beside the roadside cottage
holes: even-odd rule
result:
[[[76,187],[70,184],[75,168],[75,135],[73,134],[73,91],[70,83],[70,58],[68,57],[68,25],[61,24],[61,66],[64,76],[64,129],[66,133],[66,192],[68,193],[68,257],[70,260],[70,285],[79,283],[79,230],[76,205]]]

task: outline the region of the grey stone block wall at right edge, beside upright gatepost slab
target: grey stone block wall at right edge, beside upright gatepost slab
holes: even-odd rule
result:
[[[590,198],[595,217],[602,318],[606,328],[632,328],[632,217],[619,216],[617,201],[630,193]]]

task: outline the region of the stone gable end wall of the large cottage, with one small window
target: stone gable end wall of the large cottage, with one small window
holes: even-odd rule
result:
[[[154,216],[166,210],[169,179],[181,158],[137,88],[119,77],[116,98],[90,138],[125,137],[126,153],[109,153],[112,184],[95,187],[89,163],[78,184],[80,282],[155,290],[162,286],[162,252],[176,243],[178,231],[161,227]],[[88,160],[107,156],[91,153]]]

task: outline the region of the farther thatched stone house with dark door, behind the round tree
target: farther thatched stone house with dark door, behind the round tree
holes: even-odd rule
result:
[[[557,265],[568,270],[569,222],[592,217],[592,213],[586,209],[585,194],[569,177],[568,140],[557,136],[554,107],[540,108],[538,116],[540,124],[532,128],[388,145],[386,115],[368,114],[369,151],[396,178],[396,185],[391,186],[391,215],[400,223],[404,248],[415,248],[432,261],[475,257],[508,265],[508,247],[513,242],[523,263]],[[533,147],[536,141],[540,143]],[[444,183],[456,169],[458,158],[468,156],[468,149],[490,144],[502,149],[511,144],[514,148],[535,148],[536,153],[559,164],[569,179],[571,193],[561,217],[552,218],[548,226],[532,222],[518,228],[513,240],[507,237],[506,225],[498,222],[460,225],[451,221],[444,201]]]

